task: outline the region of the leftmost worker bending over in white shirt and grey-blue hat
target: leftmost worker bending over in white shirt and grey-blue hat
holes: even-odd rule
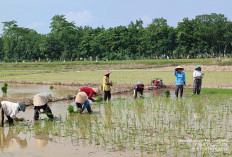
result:
[[[10,101],[2,101],[0,103],[0,110],[1,110],[1,122],[0,126],[4,126],[4,114],[6,115],[9,125],[13,125],[14,120],[19,121],[19,119],[16,117],[16,115],[19,113],[19,111],[25,112],[26,110],[26,104],[22,102],[10,102]]]

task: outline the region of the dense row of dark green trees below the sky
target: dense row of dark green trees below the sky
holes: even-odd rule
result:
[[[55,15],[51,32],[39,34],[3,22],[0,60],[127,60],[201,58],[232,54],[232,22],[222,14],[184,18],[176,28],[156,18],[147,27],[142,20],[105,29],[77,27],[64,15]]]

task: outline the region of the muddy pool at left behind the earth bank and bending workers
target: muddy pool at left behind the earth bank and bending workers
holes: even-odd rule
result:
[[[2,86],[3,84],[0,84],[0,87]],[[75,95],[78,89],[75,86],[54,86],[54,89],[51,90],[48,85],[8,84],[7,94],[3,94],[0,91],[0,96],[8,98],[32,98],[34,95],[40,93],[42,95],[62,97]]]

